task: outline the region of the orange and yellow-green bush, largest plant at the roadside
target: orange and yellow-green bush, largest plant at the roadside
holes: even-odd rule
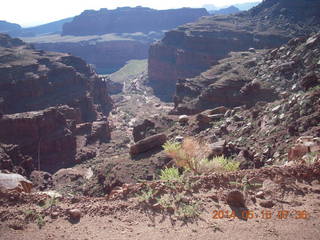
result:
[[[182,144],[168,141],[163,145],[164,151],[178,167],[191,170],[196,174],[210,172],[236,171],[239,163],[223,156],[208,159],[208,146],[194,138],[186,138]]]

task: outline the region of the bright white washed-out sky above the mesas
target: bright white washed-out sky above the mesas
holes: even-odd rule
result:
[[[155,9],[217,7],[259,0],[2,0],[0,20],[18,23],[22,27],[36,26],[79,15],[87,9],[115,9],[124,6],[143,6]]]

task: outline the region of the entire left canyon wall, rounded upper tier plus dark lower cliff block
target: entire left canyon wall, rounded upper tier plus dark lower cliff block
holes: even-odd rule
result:
[[[0,169],[52,173],[94,157],[110,139],[106,82],[80,58],[0,39]]]

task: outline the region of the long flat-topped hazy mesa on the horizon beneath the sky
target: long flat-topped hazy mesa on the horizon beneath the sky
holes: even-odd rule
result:
[[[115,10],[86,10],[72,22],[65,23],[63,35],[101,35],[168,30],[208,15],[204,9],[154,10],[144,7],[123,7]]]

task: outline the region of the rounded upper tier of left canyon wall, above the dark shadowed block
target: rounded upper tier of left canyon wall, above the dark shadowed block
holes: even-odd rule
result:
[[[103,82],[80,58],[36,51],[21,40],[0,35],[0,108],[6,114],[67,104],[81,119],[108,113],[111,102]]]

